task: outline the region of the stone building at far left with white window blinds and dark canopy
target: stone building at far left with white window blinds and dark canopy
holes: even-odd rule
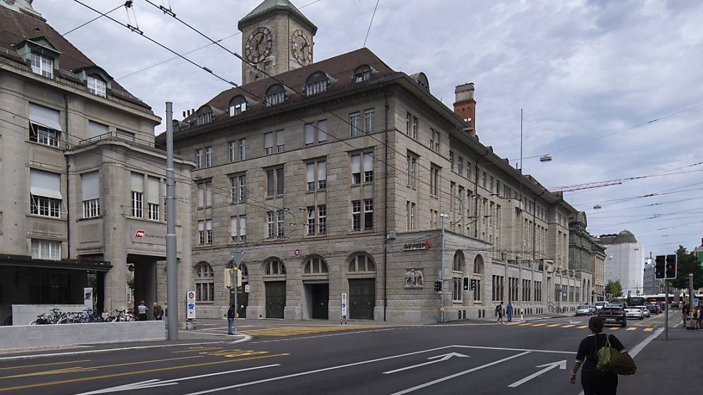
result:
[[[131,307],[130,267],[136,299],[165,302],[155,286],[166,251],[159,123],[31,1],[0,2],[1,319],[13,304],[84,304],[88,286],[98,310]],[[176,161],[183,179],[192,167]],[[177,184],[177,195],[190,192]],[[189,268],[190,207],[181,199],[176,212],[179,257]],[[182,290],[190,276],[183,271]]]

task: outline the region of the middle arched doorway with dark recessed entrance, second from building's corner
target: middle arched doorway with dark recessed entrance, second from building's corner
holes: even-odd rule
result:
[[[330,272],[324,259],[310,257],[303,266],[303,318],[329,318]]]

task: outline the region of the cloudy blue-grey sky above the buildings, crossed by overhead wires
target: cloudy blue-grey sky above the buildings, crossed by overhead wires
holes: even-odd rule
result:
[[[101,11],[120,0],[84,0]],[[153,0],[240,53],[237,21],[260,0]],[[376,0],[294,0],[318,26],[315,59],[363,46]],[[110,15],[185,53],[209,43],[143,0]],[[94,18],[70,0],[35,0],[59,32]],[[136,22],[135,22],[136,20]],[[548,187],[652,176],[567,193],[592,234],[628,229],[645,252],[703,238],[703,2],[380,0],[366,46],[395,70],[423,71],[453,103],[475,82],[477,131]],[[67,35],[164,116],[198,108],[228,86],[105,18]],[[188,55],[234,82],[240,61],[215,46]],[[146,67],[150,67],[144,70]],[[538,155],[550,154],[552,162]],[[663,174],[663,175],[661,175]],[[657,194],[649,197],[643,195]],[[594,205],[601,209],[594,209]]]

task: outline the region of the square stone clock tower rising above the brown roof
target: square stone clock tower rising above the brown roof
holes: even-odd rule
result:
[[[317,27],[288,0],[264,0],[237,27],[247,60],[242,63],[242,84],[313,62]]]

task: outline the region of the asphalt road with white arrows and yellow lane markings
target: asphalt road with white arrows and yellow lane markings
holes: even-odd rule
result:
[[[577,395],[581,386],[569,384],[567,376],[589,333],[587,321],[391,328],[364,323],[344,330],[269,325],[252,328],[258,330],[253,339],[239,344],[0,361],[0,394]],[[607,332],[633,349],[661,324],[657,316]],[[638,378],[621,377],[626,380]]]

